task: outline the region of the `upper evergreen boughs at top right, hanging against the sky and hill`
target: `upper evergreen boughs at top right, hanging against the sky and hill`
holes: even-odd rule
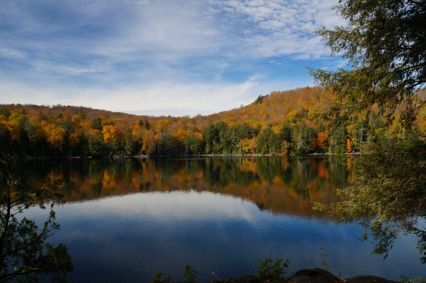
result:
[[[332,55],[342,54],[352,69],[309,69],[335,94],[324,112],[334,120],[354,118],[373,106],[390,125],[399,110],[404,127],[412,126],[426,103],[425,0],[339,0],[336,12],[349,27],[316,31]]]

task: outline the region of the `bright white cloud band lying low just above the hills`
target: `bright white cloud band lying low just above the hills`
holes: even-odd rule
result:
[[[260,84],[255,76],[241,84],[175,84],[156,82],[152,85],[114,89],[45,85],[35,87],[0,80],[1,103],[83,105],[96,109],[145,115],[211,114],[248,105],[259,94],[271,89],[289,89],[307,82],[274,82]],[[13,95],[10,95],[13,93]]]

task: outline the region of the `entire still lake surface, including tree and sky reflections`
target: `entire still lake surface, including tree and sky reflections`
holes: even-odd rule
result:
[[[290,260],[287,273],[321,266],[342,278],[425,276],[416,238],[399,239],[386,260],[370,255],[356,225],[311,210],[311,201],[339,201],[336,189],[354,178],[336,157],[28,160],[41,185],[65,180],[68,200],[56,206],[61,230],[51,238],[71,253],[71,282],[148,283],[159,270],[183,280],[195,265],[200,282],[254,274],[272,251]],[[47,211],[31,209],[38,223]]]

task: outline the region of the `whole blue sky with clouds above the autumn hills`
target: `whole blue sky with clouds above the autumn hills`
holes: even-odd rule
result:
[[[233,109],[346,63],[337,0],[2,0],[0,103],[148,115]]]

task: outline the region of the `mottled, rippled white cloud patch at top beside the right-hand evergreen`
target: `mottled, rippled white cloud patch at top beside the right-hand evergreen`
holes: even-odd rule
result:
[[[315,59],[330,55],[330,50],[312,32],[326,26],[346,25],[331,10],[336,0],[224,0],[217,7],[240,22],[252,22],[241,31],[253,55],[290,55],[294,59]],[[253,32],[253,29],[258,32]]]

